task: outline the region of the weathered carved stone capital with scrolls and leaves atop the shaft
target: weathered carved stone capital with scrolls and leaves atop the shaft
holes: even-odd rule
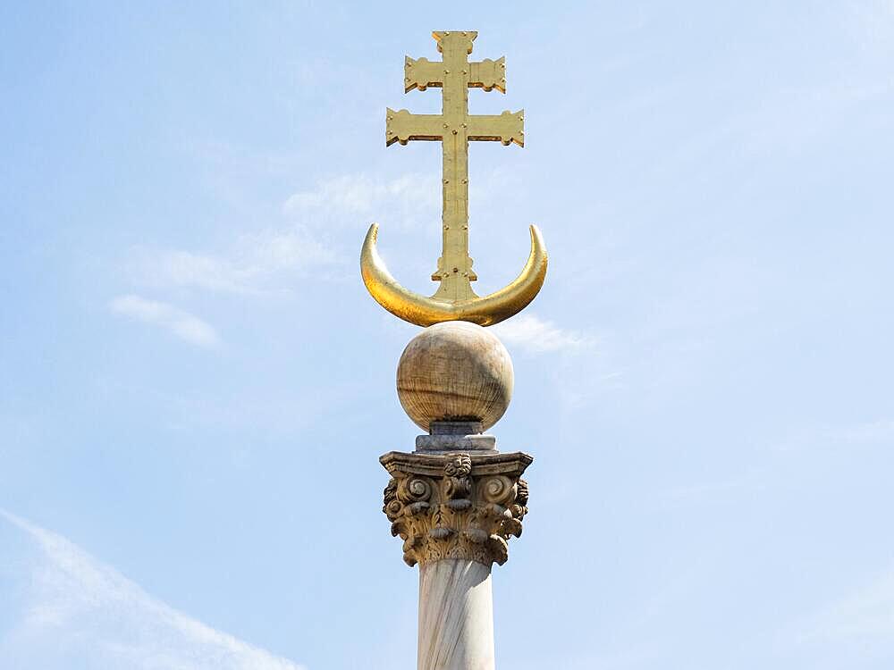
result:
[[[391,473],[382,511],[403,540],[407,565],[465,558],[487,566],[509,557],[508,540],[521,535],[533,458],[524,453],[405,454],[380,459]]]

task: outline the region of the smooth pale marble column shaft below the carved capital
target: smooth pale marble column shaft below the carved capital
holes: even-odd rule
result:
[[[446,558],[419,566],[418,670],[493,670],[491,569]]]

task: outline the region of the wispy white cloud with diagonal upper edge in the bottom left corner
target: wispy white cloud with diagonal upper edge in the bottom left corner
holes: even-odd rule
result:
[[[38,556],[16,575],[24,607],[0,638],[4,667],[302,670],[153,598],[61,535],[4,510],[0,518],[33,540]]]

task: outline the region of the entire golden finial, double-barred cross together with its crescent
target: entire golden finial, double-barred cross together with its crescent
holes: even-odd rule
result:
[[[443,321],[470,321],[491,325],[516,314],[534,299],[546,276],[546,249],[536,226],[531,226],[531,253],[519,277],[509,286],[478,297],[471,281],[477,280],[468,255],[468,142],[500,141],[525,144],[525,113],[469,114],[468,89],[496,88],[506,92],[503,58],[468,62],[477,32],[434,32],[442,62],[406,57],[404,85],[443,88],[443,113],[412,114],[405,109],[385,113],[385,143],[410,140],[440,141],[443,147],[443,249],[433,281],[441,286],[432,297],[420,296],[394,281],[375,250],[377,224],[370,226],[360,254],[360,270],[369,293],[392,314],[405,321],[429,326]]]

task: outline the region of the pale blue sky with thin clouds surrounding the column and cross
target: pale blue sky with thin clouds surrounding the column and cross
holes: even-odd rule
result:
[[[0,8],[0,665],[411,668],[377,457],[431,291],[404,54],[477,29],[476,289],[536,456],[503,667],[890,668],[894,4]]]

